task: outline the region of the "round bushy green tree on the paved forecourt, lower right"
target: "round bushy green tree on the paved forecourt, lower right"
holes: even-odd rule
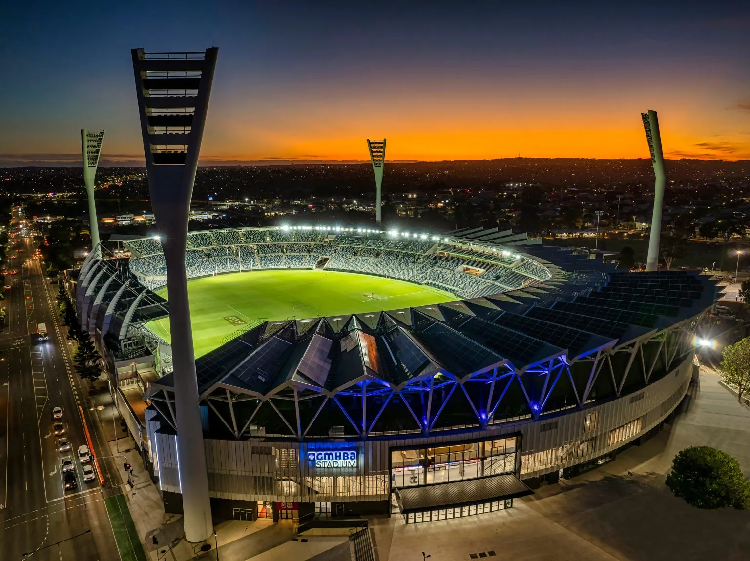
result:
[[[699,509],[750,506],[750,482],[742,476],[739,462],[710,446],[690,446],[677,452],[667,487],[675,497]]]

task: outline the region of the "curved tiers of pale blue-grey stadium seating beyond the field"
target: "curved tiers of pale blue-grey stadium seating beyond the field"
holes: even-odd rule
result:
[[[149,288],[166,282],[156,237],[130,240],[130,268]],[[327,261],[321,258],[328,257]],[[463,297],[522,288],[550,277],[549,271],[508,251],[467,249],[432,238],[338,234],[291,228],[231,228],[187,234],[188,278],[239,270],[326,269],[389,276],[431,285]]]

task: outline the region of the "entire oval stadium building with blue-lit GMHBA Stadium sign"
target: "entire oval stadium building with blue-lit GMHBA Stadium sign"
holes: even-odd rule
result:
[[[154,329],[169,315],[160,243],[125,240],[102,255],[71,274],[80,319],[166,511],[179,512],[171,350]],[[694,376],[716,282],[595,257],[482,228],[190,232],[191,299],[233,279],[221,303],[192,310],[196,338],[202,321],[228,326],[196,360],[214,522],[490,512],[658,430]],[[296,273],[379,288],[353,289],[348,312],[317,303],[263,317],[248,303],[222,315],[264,275],[288,282],[275,302],[298,301]],[[404,282],[434,300],[394,309],[374,297]]]

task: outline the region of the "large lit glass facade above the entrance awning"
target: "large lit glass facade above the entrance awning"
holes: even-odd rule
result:
[[[511,473],[515,463],[516,437],[435,448],[391,449],[391,488]]]

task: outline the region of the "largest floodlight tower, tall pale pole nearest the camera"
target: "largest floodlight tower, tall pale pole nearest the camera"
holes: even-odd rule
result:
[[[188,542],[202,542],[213,533],[187,300],[185,246],[217,52],[214,48],[205,52],[131,51],[148,189],[166,261],[178,472]]]

